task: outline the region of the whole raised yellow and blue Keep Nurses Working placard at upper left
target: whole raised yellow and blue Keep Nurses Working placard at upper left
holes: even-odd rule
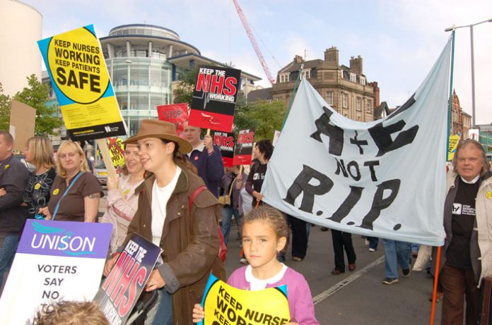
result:
[[[127,135],[94,26],[37,42],[71,140]]]

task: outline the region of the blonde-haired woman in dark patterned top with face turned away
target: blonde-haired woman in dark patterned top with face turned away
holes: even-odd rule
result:
[[[25,145],[25,161],[35,166],[23,194],[23,201],[28,207],[26,216],[34,219],[37,211],[48,205],[53,180],[57,176],[49,139],[40,135],[30,137]]]

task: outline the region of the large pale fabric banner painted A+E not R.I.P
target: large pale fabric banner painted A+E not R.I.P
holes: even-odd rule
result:
[[[339,231],[443,245],[450,49],[405,104],[369,123],[336,113],[303,80],[268,164],[264,202]]]

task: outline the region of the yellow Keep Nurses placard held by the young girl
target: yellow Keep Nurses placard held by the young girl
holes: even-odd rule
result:
[[[207,283],[202,305],[205,310],[203,325],[281,325],[291,319],[286,286],[241,290],[218,280],[213,274]]]

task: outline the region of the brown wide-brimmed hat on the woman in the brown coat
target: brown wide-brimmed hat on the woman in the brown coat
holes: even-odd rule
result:
[[[176,135],[176,125],[160,120],[142,120],[139,132],[133,137],[124,140],[123,143],[125,145],[128,143],[136,143],[138,140],[146,137],[157,137],[158,139],[176,142],[181,154],[187,154],[193,149],[191,143]]]

